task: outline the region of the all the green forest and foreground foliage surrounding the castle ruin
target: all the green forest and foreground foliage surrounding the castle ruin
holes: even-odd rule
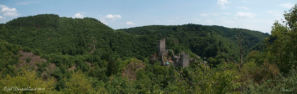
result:
[[[297,5],[283,16],[271,34],[200,24],[114,30],[89,17],[19,17],[0,24],[0,93],[297,93]],[[158,39],[207,64],[153,62]],[[29,86],[45,90],[4,88]]]

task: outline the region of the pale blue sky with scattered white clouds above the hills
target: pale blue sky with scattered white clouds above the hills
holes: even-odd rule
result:
[[[271,31],[296,0],[1,0],[0,23],[37,14],[96,18],[113,29],[202,24]]]

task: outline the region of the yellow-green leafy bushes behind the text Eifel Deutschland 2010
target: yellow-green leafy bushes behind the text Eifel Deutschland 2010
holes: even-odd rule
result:
[[[7,75],[4,79],[0,80],[1,87],[7,87],[6,90],[1,90],[0,93],[29,93],[29,94],[46,94],[52,93],[54,88],[54,79],[43,80],[37,77],[35,71],[21,70],[18,75],[11,77]],[[15,90],[17,89],[34,89],[34,90]],[[12,88],[12,90],[8,90]],[[40,88],[40,90],[38,90]],[[43,89],[44,88],[44,89]],[[36,89],[36,90],[35,90]]]

